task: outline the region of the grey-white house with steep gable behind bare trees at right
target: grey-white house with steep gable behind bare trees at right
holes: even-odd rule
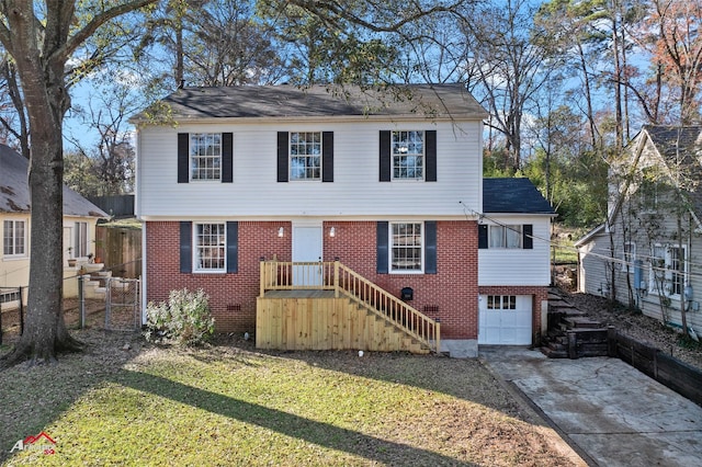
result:
[[[578,288],[702,332],[702,127],[644,126],[611,174],[609,221],[576,242]]]

